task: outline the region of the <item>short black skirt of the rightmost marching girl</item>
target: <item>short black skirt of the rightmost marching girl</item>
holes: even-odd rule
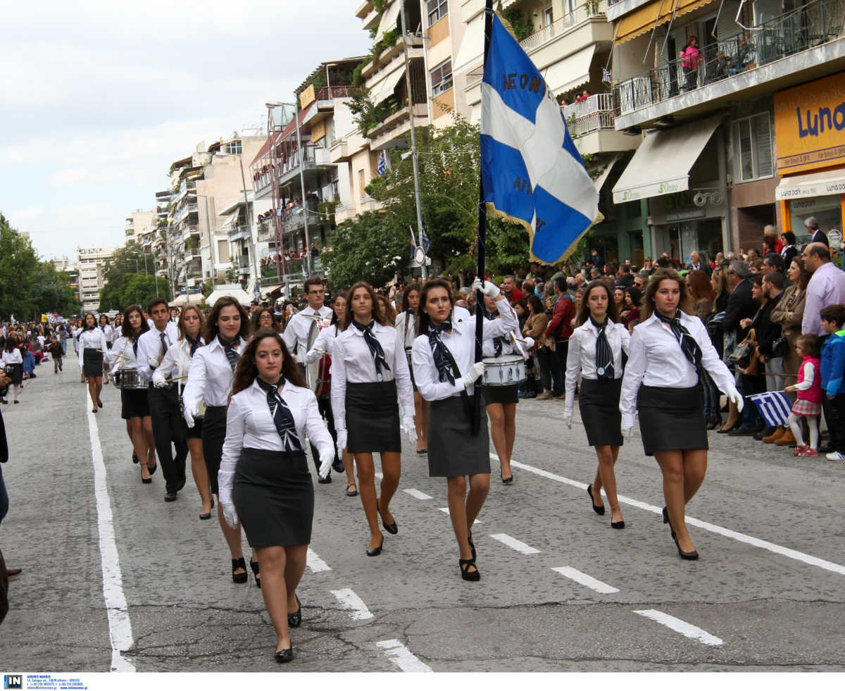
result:
[[[637,410],[646,456],[653,456],[656,451],[709,449],[698,386],[641,386]]]

